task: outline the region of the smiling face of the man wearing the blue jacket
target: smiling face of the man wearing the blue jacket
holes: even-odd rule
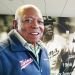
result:
[[[44,24],[41,13],[35,8],[27,8],[22,12],[21,18],[17,21],[17,31],[28,42],[35,44],[40,41]]]

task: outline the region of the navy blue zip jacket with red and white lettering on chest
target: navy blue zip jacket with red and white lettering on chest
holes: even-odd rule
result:
[[[50,75],[47,52],[41,48],[39,63],[35,55],[22,46],[11,32],[0,43],[0,75]]]

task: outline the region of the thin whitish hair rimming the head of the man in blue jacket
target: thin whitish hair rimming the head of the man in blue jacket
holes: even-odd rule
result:
[[[23,17],[23,12],[25,12],[26,9],[29,9],[29,8],[32,8],[32,9],[35,9],[41,16],[42,16],[42,13],[41,11],[39,10],[38,7],[36,7],[35,5],[32,5],[32,4],[27,4],[27,5],[22,5],[20,6],[16,12],[15,12],[15,20]]]

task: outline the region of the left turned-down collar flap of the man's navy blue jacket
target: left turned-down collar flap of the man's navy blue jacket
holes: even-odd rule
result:
[[[25,47],[21,44],[19,39],[15,36],[15,33],[13,30],[10,31],[9,35],[9,43],[10,43],[10,48],[12,51],[25,51]]]

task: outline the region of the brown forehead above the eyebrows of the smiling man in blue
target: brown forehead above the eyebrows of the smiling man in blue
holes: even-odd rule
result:
[[[20,12],[20,17],[21,18],[31,17],[31,18],[43,19],[41,12],[38,9],[35,9],[33,7],[23,8],[22,11]]]

